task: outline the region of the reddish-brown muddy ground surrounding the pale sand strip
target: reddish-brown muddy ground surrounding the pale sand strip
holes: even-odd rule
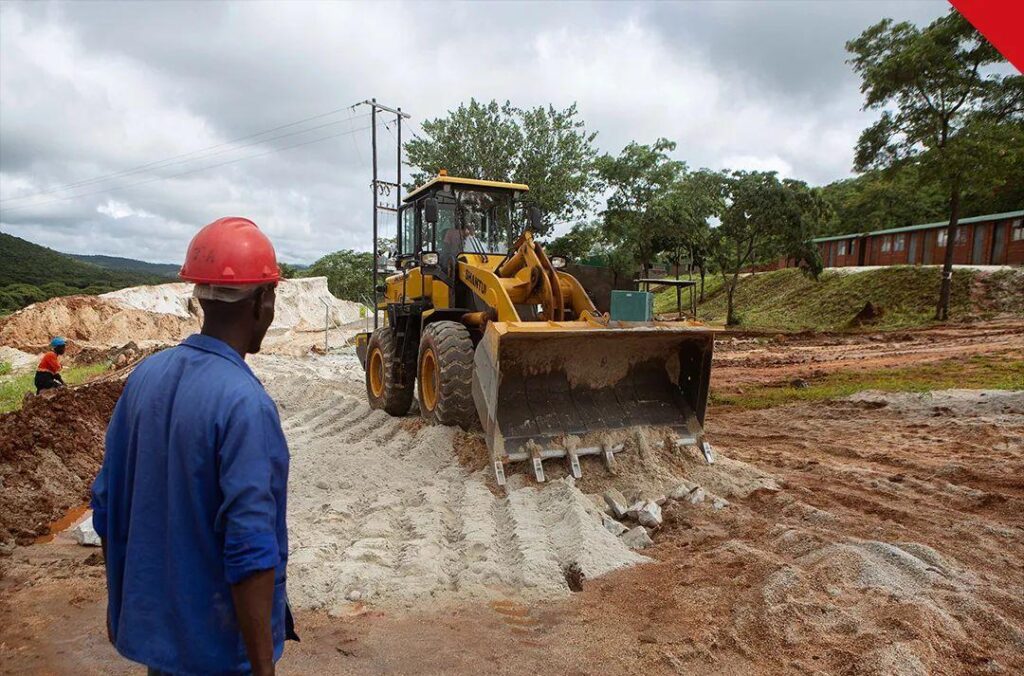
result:
[[[865,363],[1019,357],[1022,347],[1021,323],[726,338],[715,382],[785,382]],[[269,366],[280,372],[284,365]],[[356,381],[340,386],[334,405],[357,390]],[[713,409],[709,433],[719,452],[770,475],[777,490],[729,497],[722,510],[670,506],[655,546],[643,552],[650,563],[586,580],[579,593],[534,600],[502,588],[455,600],[444,582],[408,607],[371,600],[300,611],[303,641],[289,644],[281,671],[475,673],[485,664],[498,673],[1020,673],[1022,399],[954,391]],[[325,450],[337,436],[344,453],[357,452],[360,436],[368,449],[402,434],[438,440],[412,420],[393,430],[357,420],[334,429],[315,416],[289,423],[286,410],[284,417],[299,457],[315,447],[296,430]],[[431,445],[413,448],[427,453]],[[600,471],[587,466],[585,478]],[[367,472],[359,478],[372,481]],[[332,498],[344,500],[325,502]],[[407,522],[401,515],[397,521]],[[315,525],[310,516],[292,527],[308,538]],[[331,527],[370,529],[347,519]],[[137,672],[105,642],[102,567],[93,550],[58,537],[19,547],[0,565],[0,671]]]

